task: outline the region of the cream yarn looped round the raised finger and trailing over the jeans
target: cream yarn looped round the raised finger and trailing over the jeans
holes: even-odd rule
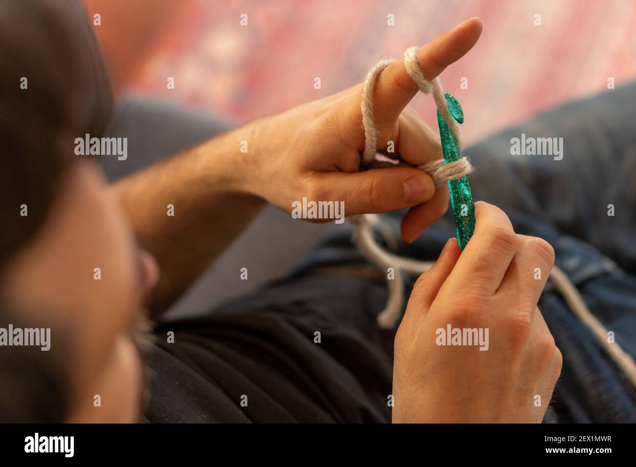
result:
[[[404,52],[404,67],[418,89],[425,94],[432,93],[435,104],[441,116],[443,117],[448,128],[453,132],[457,144],[461,147],[459,128],[455,120],[450,116],[448,104],[444,97],[444,91],[441,88],[439,79],[435,78],[428,81],[419,65],[417,58],[417,47],[408,48]],[[364,81],[361,111],[364,127],[364,152],[363,162],[366,166],[373,166],[375,154],[377,152],[377,130],[373,119],[373,88],[378,75],[395,60],[381,60],[367,74]],[[424,165],[418,166],[424,172],[431,175],[436,186],[443,186],[448,180],[460,179],[472,172],[473,167],[466,158],[461,158],[453,163],[445,164],[443,160],[432,161]],[[391,238],[393,243],[395,239],[392,237],[387,226],[382,222],[380,217],[373,214],[352,215],[349,217],[350,222],[354,224],[354,241],[356,242],[361,253],[370,261],[377,264],[384,271],[389,267],[394,269],[394,279],[389,280],[389,299],[387,305],[380,315],[378,315],[378,324],[382,328],[394,328],[397,320],[401,316],[403,309],[404,283],[402,280],[402,272],[419,275],[427,271],[432,262],[415,261],[413,259],[399,257],[386,252],[373,238],[373,227],[377,227],[380,233],[387,241],[387,245],[391,246]],[[618,343],[609,343],[607,341],[607,329],[592,315],[587,308],[581,294],[567,278],[567,275],[559,267],[553,267],[550,278],[554,281],[556,288],[563,295],[563,298],[572,309],[574,315],[590,329],[598,342],[605,349],[607,354],[612,358],[614,363],[623,370],[625,376],[634,386],[636,386],[636,363],[632,357],[626,353]]]

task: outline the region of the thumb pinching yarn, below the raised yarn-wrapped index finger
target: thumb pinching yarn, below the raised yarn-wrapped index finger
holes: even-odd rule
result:
[[[375,168],[325,175],[329,177],[331,198],[345,201],[347,215],[397,211],[425,203],[435,194],[431,177],[416,168]]]

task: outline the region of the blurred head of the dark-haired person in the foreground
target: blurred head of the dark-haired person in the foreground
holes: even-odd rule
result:
[[[95,156],[74,154],[110,113],[89,28],[69,2],[0,0],[0,328],[51,329],[48,351],[0,346],[0,421],[141,409],[134,328],[156,273]]]

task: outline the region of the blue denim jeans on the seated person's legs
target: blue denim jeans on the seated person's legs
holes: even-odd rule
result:
[[[467,116],[466,125],[470,125]],[[473,118],[475,118],[473,116]],[[469,147],[476,172],[475,200],[500,206],[518,233],[539,236],[555,248],[556,265],[581,292],[590,311],[636,359],[636,83],[567,104]],[[563,158],[513,156],[511,139],[563,138]],[[614,215],[611,213],[613,206]],[[399,233],[403,213],[384,220]],[[289,279],[317,267],[359,263],[350,226],[334,229]],[[434,260],[453,236],[451,213],[399,254]],[[326,307],[361,305],[350,281],[349,297],[324,297]],[[406,297],[415,278],[407,278]],[[305,286],[307,287],[307,286]],[[373,304],[384,306],[382,295]],[[343,303],[344,301],[344,303]],[[358,302],[356,302],[358,301]],[[636,389],[616,367],[563,297],[548,281],[539,307],[563,354],[562,375],[544,421],[636,422]],[[360,311],[361,313],[363,311]]]

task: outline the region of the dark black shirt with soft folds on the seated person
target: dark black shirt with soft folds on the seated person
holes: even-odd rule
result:
[[[344,279],[280,281],[207,316],[160,325],[145,419],[390,421],[393,333],[375,322],[382,280]]]

